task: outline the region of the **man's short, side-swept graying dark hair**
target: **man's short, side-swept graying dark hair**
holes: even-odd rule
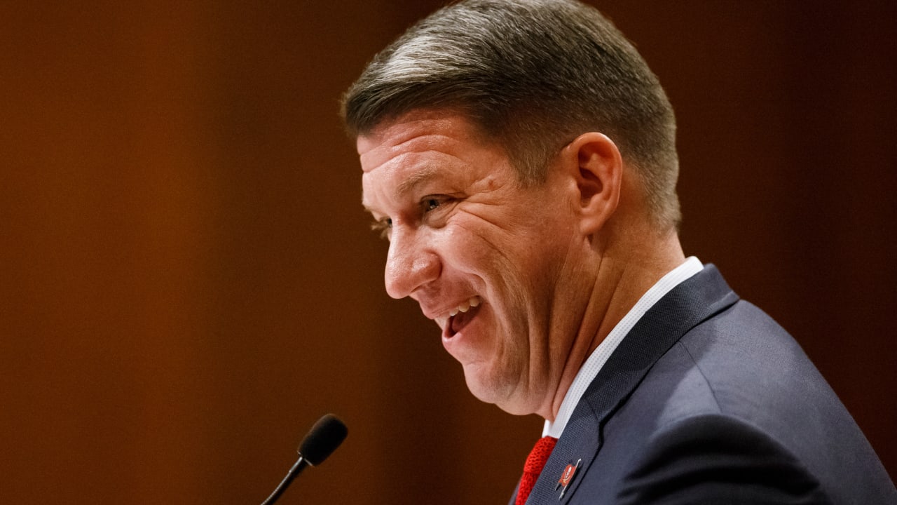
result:
[[[344,94],[353,137],[418,109],[463,113],[497,140],[524,183],[587,131],[619,146],[655,225],[680,221],[675,114],[614,24],[575,0],[464,0],[416,23]]]

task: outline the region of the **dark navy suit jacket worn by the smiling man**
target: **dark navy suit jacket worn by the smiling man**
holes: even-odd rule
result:
[[[797,342],[707,265],[588,386],[527,501],[567,503],[867,505],[897,491]]]

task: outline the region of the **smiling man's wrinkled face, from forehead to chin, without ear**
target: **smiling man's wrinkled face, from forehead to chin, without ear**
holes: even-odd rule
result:
[[[364,206],[389,240],[388,294],[439,324],[475,396],[536,412],[569,344],[549,339],[570,319],[557,302],[576,235],[569,184],[522,187],[500,146],[444,112],[380,125],[358,151]]]

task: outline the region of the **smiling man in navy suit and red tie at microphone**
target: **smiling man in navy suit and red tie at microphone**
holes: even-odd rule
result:
[[[596,10],[452,4],[344,118],[388,294],[476,397],[545,419],[512,503],[897,502],[797,343],[686,260],[672,108]]]

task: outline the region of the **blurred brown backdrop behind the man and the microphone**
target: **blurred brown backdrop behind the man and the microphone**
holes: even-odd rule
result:
[[[337,119],[436,1],[0,4],[0,501],[503,503],[539,434],[381,285]],[[779,319],[897,472],[895,22],[607,0],[680,124],[687,253]]]

